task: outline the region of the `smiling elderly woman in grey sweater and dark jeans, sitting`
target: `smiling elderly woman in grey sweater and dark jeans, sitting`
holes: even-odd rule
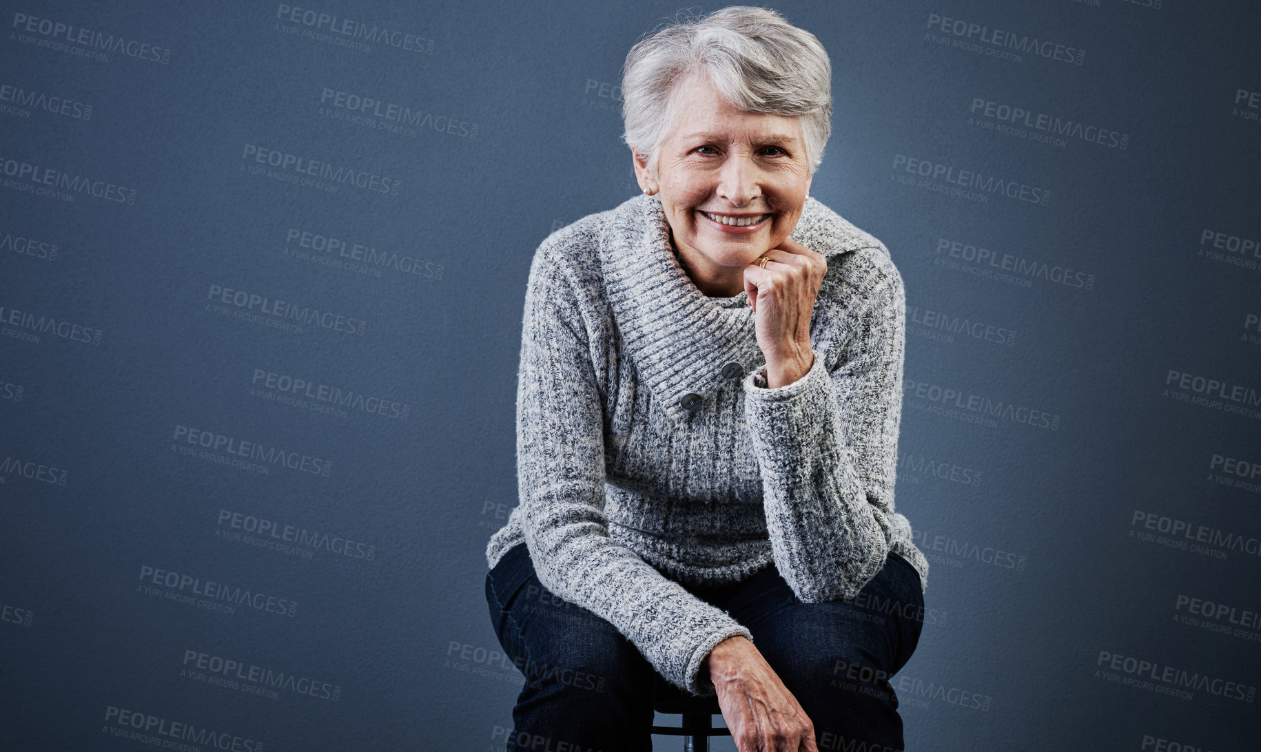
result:
[[[637,43],[622,92],[643,194],[549,236],[526,290],[520,504],[487,548],[508,746],[649,749],[660,675],[716,693],[741,752],[902,749],[905,299],[808,195],[827,53],[728,8]]]

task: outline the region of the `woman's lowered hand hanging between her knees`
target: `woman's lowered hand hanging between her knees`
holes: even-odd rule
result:
[[[753,642],[728,637],[705,665],[738,752],[818,752],[815,724]]]

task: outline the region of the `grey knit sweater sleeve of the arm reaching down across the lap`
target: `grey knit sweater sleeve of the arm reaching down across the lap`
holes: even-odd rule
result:
[[[517,380],[522,532],[538,581],[613,624],[692,694],[714,694],[710,650],[752,632],[609,537],[604,416],[576,286],[543,249],[531,265]]]

